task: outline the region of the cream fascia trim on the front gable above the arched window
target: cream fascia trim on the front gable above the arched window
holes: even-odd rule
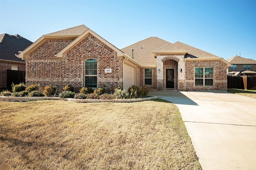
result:
[[[103,39],[102,37],[100,37],[100,35],[96,34],[94,31],[92,31],[91,29],[87,29],[86,31],[84,31],[84,33],[82,33],[80,36],[78,36],[74,41],[72,41],[69,45],[67,45],[64,49],[62,49],[59,53],[57,53],[57,57],[61,58],[64,57],[64,53],[68,50],[70,50],[74,45],[76,45],[77,43],[79,43],[84,37],[86,37],[86,35],[88,34],[92,34],[94,37],[96,37],[97,39],[99,39],[100,41],[102,41],[104,44],[106,44],[108,47],[110,47],[111,49],[113,49],[114,51],[117,52],[117,56],[123,56],[123,52],[116,48],[114,45],[112,45],[111,43],[109,43],[108,41],[106,41],[105,39]]]

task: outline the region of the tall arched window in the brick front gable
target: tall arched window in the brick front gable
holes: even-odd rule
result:
[[[97,88],[97,60],[85,61],[85,86]]]

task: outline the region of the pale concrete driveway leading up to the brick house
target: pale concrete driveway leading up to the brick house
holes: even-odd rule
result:
[[[149,95],[178,106],[203,170],[256,170],[256,99],[220,91]]]

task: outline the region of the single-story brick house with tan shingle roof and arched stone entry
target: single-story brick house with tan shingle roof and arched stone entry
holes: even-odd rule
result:
[[[19,55],[26,61],[26,85],[72,84],[115,86],[135,84],[158,90],[227,90],[230,63],[184,43],[150,37],[118,49],[85,25],[40,37]]]

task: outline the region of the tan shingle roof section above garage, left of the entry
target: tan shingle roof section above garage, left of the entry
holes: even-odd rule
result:
[[[149,37],[129,45],[128,47],[121,49],[121,51],[132,57],[133,50],[133,58],[134,60],[138,61],[138,63],[142,64],[143,66],[155,66],[156,58],[152,52],[168,44],[171,43],[158,37]]]

